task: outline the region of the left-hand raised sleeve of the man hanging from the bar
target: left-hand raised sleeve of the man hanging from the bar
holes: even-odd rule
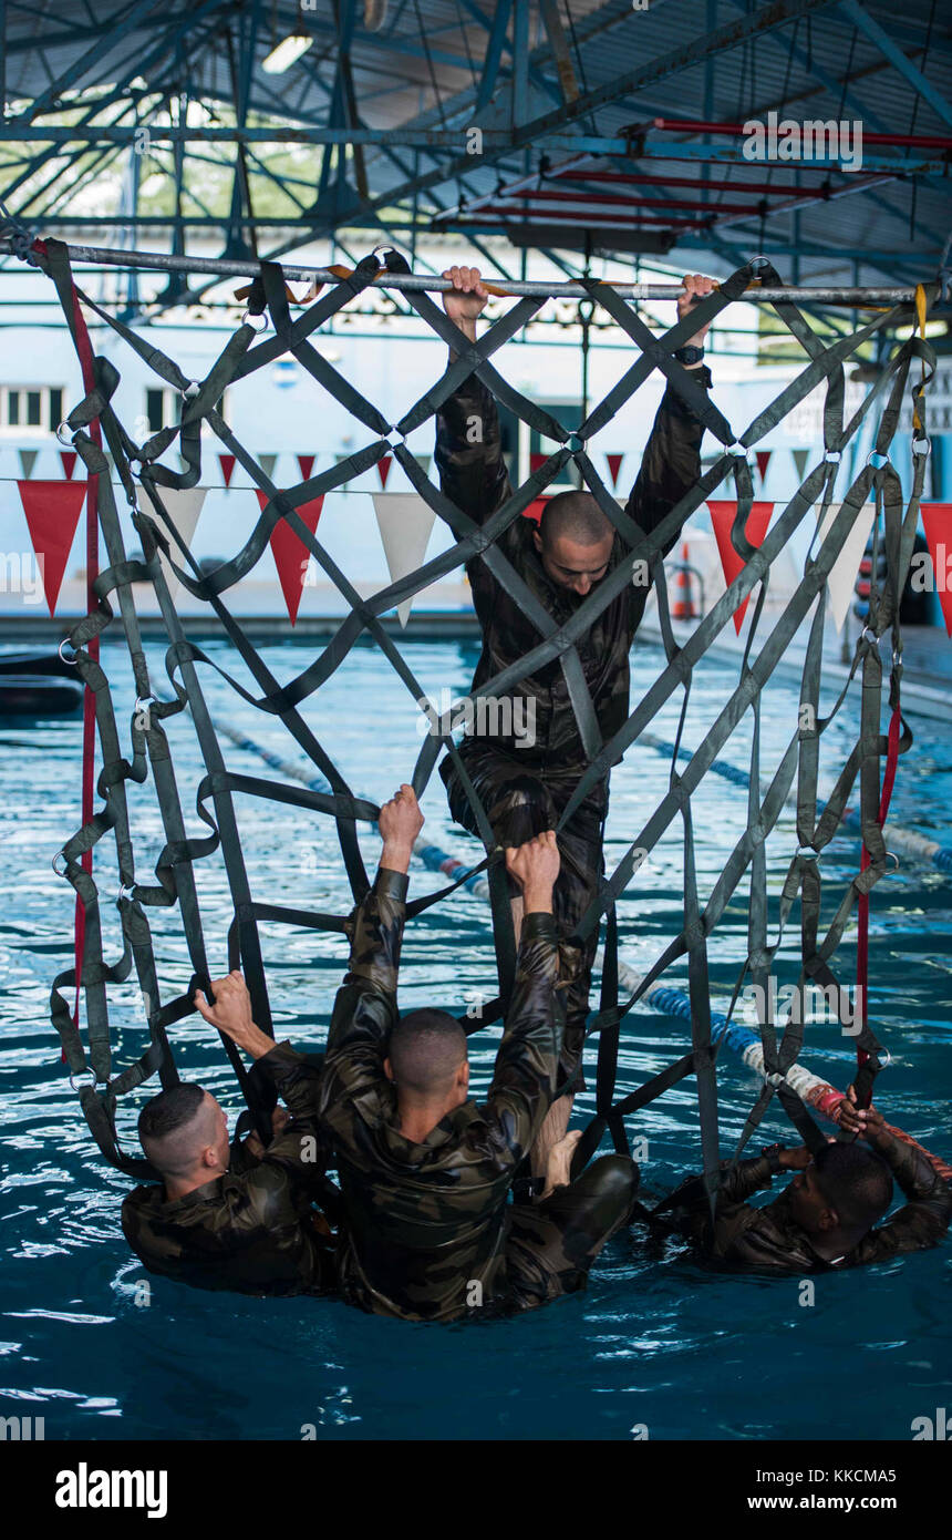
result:
[[[443,493],[475,524],[512,494],[495,397],[475,374],[437,413],[435,460]]]

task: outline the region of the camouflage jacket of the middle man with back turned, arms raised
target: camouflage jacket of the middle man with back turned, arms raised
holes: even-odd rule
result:
[[[397,1021],[406,887],[401,873],[380,872],[351,921],[351,970],[331,1019],[321,1116],[345,1195],[345,1298],[378,1315],[444,1321],[506,1286],[506,1197],[555,1087],[558,952],[552,916],[528,915],[489,1096],[457,1107],[415,1144],[400,1132],[383,1069]]]

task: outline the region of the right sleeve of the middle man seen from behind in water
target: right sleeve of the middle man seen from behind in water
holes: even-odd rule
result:
[[[526,915],[512,1003],[484,1106],[504,1166],[523,1158],[552,1103],[564,1018],[557,986],[555,921],[552,915]]]

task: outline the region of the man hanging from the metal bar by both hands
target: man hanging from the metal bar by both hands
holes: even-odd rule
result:
[[[454,283],[443,296],[446,314],[475,342],[477,317],[489,297],[480,282],[480,270],[454,266],[443,277]],[[678,320],[712,288],[712,279],[697,273],[687,276],[684,294],[678,299]],[[711,385],[711,371],[703,363],[706,331],[707,326],[701,326],[691,343],[675,353],[675,359],[691,371],[692,382],[704,390]],[[455,360],[452,350],[449,359],[451,363]],[[698,480],[703,433],[700,417],[667,387],[624,508],[646,534]],[[475,374],[437,414],[435,459],[446,496],[480,525],[512,494],[495,399]],[[677,534],[667,539],[664,553],[675,539]],[[572,618],[581,601],[629,551],[588,491],[563,491],[551,497],[538,528],[531,519],[515,519],[500,537],[498,548],[558,625]],[[475,698],[489,678],[537,647],[540,633],[480,556],[469,562],[466,573],[483,631],[483,653],[471,687]],[[627,719],[627,654],[644,613],[647,590],[646,573],[635,567],[632,584],[575,644],[604,741]],[[518,724],[517,733],[466,738],[460,755],[498,844],[520,845],[541,830],[555,829],[586,768],[586,753],[558,659],[512,687],[509,710],[494,716],[497,727],[506,722],[508,715]],[[526,721],[531,732],[526,732]],[[449,756],[443,759],[440,775],[455,822],[478,835],[466,790]],[[604,872],[601,844],[607,795],[606,775],[558,835],[561,870],[554,912],[563,978],[569,983],[560,1086],[575,1070],[584,1043],[597,927],[581,949],[568,942],[597,896]],[[521,904],[515,893],[512,909],[518,941]],[[546,1169],[549,1149],[564,1135],[571,1110],[569,1093],[552,1106],[532,1153],[537,1181]]]

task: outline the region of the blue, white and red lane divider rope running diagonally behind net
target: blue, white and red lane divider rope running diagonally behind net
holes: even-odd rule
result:
[[[217,730],[231,742],[241,748],[245,753],[257,755],[265,764],[271,765],[272,770],[278,770],[281,775],[291,776],[300,781],[311,792],[328,792],[329,784],[321,775],[308,775],[300,765],[294,764],[291,759],[281,759],[280,755],[272,753],[263,744],[258,744],[254,738],[246,733],[240,733],[234,727],[228,727],[223,722],[217,722]],[[655,747],[654,744],[651,747]],[[729,765],[727,768],[734,768]],[[744,772],[738,772],[744,775]],[[372,801],[368,798],[368,801]],[[440,872],[451,881],[457,881],[458,876],[468,870],[464,861],[457,856],[448,855],[438,845],[431,844],[426,839],[417,839],[414,842],[414,855],[423,862],[431,872]],[[461,884],[469,893],[475,893],[477,898],[489,899],[489,882],[480,873],[477,876],[466,878]],[[601,964],[601,955],[597,958],[597,964]],[[632,995],[637,993],[641,983],[641,975],[635,972],[623,958],[618,958],[618,983],[627,989]],[[644,1001],[649,1001],[652,1007],[666,1016],[675,1016],[680,1021],[691,1021],[691,996],[672,984],[654,984],[643,995]],[[763,1056],[763,1044],[760,1036],[744,1023],[734,1021],[723,1012],[715,1010],[711,1013],[711,1027],[718,1033],[718,1047],[726,1044],[732,1053],[737,1053],[743,1063],[755,1070],[763,1080],[766,1080],[766,1066]],[[803,1064],[791,1064],[784,1075],[786,1084],[794,1090],[801,1101],[814,1107],[827,1123],[838,1124],[840,1121],[840,1104],[846,1100],[844,1092],[837,1090],[827,1081],[820,1080],[812,1070],[806,1069]],[[946,1181],[952,1181],[952,1166],[946,1164],[938,1155],[932,1155],[927,1149],[904,1133],[901,1129],[886,1124],[889,1132],[895,1138],[901,1140],[904,1144],[910,1144],[914,1149],[920,1150],[926,1160],[930,1161],[934,1169]]]

